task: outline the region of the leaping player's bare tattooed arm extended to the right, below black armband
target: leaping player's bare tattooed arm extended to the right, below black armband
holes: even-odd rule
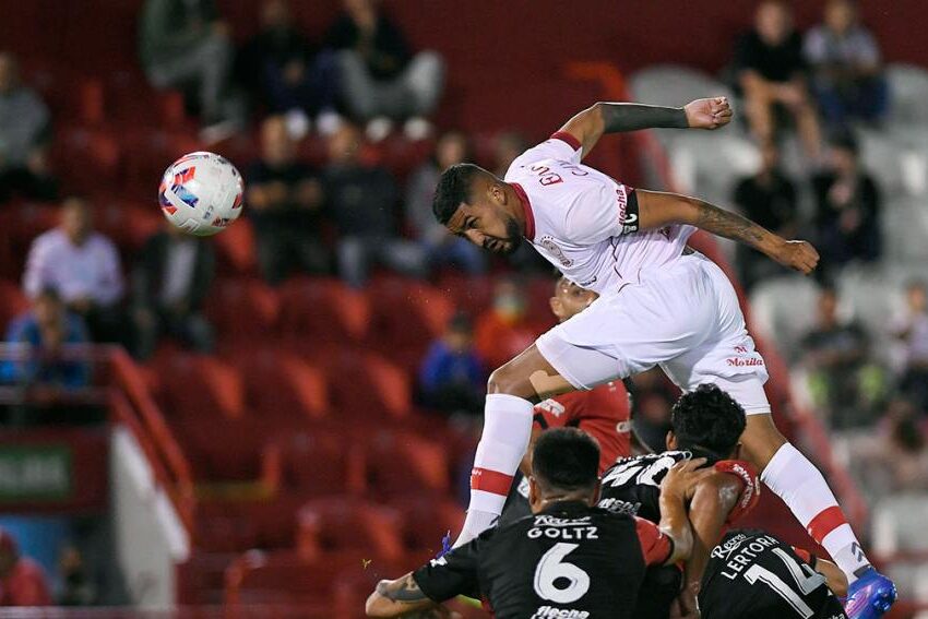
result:
[[[726,239],[748,245],[771,259],[805,274],[819,263],[819,252],[801,240],[786,240],[747,217],[697,198],[661,191],[635,190],[641,229],[689,224]]]

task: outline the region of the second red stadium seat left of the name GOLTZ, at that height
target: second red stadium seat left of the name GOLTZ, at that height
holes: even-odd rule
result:
[[[300,509],[297,522],[297,550],[306,558],[338,552],[386,561],[403,557],[400,514],[382,505],[350,499],[318,499]]]

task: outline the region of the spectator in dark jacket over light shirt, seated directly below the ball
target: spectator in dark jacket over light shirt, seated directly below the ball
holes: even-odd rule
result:
[[[213,329],[202,314],[215,274],[213,245],[167,222],[142,248],[132,273],[135,354],[147,359],[169,335],[194,350],[213,347]]]

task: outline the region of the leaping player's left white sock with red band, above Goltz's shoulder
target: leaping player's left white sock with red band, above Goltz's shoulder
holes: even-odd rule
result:
[[[491,527],[505,504],[512,477],[532,437],[532,403],[503,393],[487,395],[484,432],[471,473],[471,505],[457,548]]]

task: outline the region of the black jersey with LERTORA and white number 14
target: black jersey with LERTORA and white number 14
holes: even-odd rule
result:
[[[847,619],[825,578],[762,531],[728,532],[702,576],[703,619]]]

